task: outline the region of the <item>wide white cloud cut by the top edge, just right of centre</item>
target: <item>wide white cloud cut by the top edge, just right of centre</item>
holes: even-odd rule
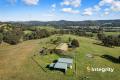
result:
[[[72,6],[72,7],[80,7],[81,0],[63,0],[63,2],[61,2],[61,5]]]

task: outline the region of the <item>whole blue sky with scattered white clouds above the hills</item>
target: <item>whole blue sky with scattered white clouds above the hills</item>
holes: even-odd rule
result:
[[[120,19],[120,0],[0,0],[0,21]]]

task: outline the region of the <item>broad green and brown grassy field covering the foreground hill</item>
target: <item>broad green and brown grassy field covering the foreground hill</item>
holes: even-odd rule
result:
[[[50,71],[46,66],[60,56],[56,54],[39,55],[42,47],[54,48],[50,39],[57,35],[41,40],[30,40],[18,45],[0,45],[0,80],[119,80],[120,64],[101,58],[100,55],[110,55],[118,58],[120,47],[104,47],[95,39],[78,37],[73,35],[60,36],[64,41],[69,37],[76,38],[80,47],[68,51],[65,54],[76,56],[76,75],[73,64],[72,71],[65,75],[60,71]],[[86,54],[98,55],[94,58],[86,57]],[[33,56],[36,55],[36,56]],[[75,63],[75,59],[74,59]],[[87,67],[114,68],[114,72],[88,72]],[[84,77],[88,77],[85,79]]]

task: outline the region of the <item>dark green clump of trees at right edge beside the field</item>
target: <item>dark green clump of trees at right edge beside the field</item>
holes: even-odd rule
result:
[[[120,35],[105,35],[104,33],[97,34],[98,39],[108,47],[120,46]]]

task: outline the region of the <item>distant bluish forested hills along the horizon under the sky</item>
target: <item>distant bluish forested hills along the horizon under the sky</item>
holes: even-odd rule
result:
[[[79,27],[87,27],[87,26],[100,26],[100,27],[120,27],[120,19],[116,20],[87,20],[87,21],[23,21],[23,22],[9,22],[14,25],[26,25],[26,26],[54,26],[54,27],[71,27],[71,26],[79,26]]]

